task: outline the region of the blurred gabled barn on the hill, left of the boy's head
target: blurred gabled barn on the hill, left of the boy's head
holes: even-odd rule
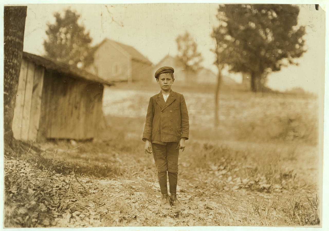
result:
[[[152,63],[134,47],[104,39],[94,47],[94,62],[86,69],[107,81],[150,81]]]

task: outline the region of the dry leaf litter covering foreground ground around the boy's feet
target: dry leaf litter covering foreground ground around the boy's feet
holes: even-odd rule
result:
[[[207,151],[212,148],[206,146]],[[128,163],[124,158],[130,157],[114,158],[124,165]],[[291,211],[282,207],[284,197],[292,196],[292,191],[296,193],[292,198],[307,194],[289,169],[272,178],[260,172],[241,175],[241,169],[247,172],[255,166],[226,157],[206,161],[203,166],[183,161],[182,166],[177,190],[184,209],[164,210],[154,168],[133,172],[136,166],[125,166],[126,174],[109,179],[78,175],[73,170],[65,175],[50,167],[37,168],[32,161],[6,158],[10,198],[5,203],[6,216],[16,217],[12,221],[20,227],[275,226],[303,222],[298,214],[292,211],[287,215]],[[193,172],[184,171],[190,167]],[[13,175],[24,180],[10,181]],[[15,202],[24,201],[18,198],[22,197],[19,192],[31,195],[29,200]],[[287,216],[292,221],[287,221]],[[273,218],[263,219],[269,217]]]

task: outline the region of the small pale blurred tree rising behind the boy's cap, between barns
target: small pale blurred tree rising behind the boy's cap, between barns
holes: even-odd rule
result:
[[[203,61],[201,53],[197,52],[197,44],[190,37],[188,32],[184,35],[179,35],[176,39],[178,55],[177,61],[182,65],[184,70],[195,72],[200,68],[200,63]]]

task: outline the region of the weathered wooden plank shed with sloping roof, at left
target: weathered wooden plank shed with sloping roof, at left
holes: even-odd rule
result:
[[[104,85],[113,84],[55,59],[23,52],[14,137],[93,139],[103,115]]]

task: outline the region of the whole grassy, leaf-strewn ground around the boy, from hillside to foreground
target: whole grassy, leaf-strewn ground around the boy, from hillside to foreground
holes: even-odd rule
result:
[[[5,158],[5,227],[320,224],[314,97],[223,91],[214,128],[214,87],[175,87],[190,116],[179,160],[185,210],[159,208],[143,151],[148,100],[159,90],[119,85],[104,93],[107,128],[93,142],[53,141]]]

